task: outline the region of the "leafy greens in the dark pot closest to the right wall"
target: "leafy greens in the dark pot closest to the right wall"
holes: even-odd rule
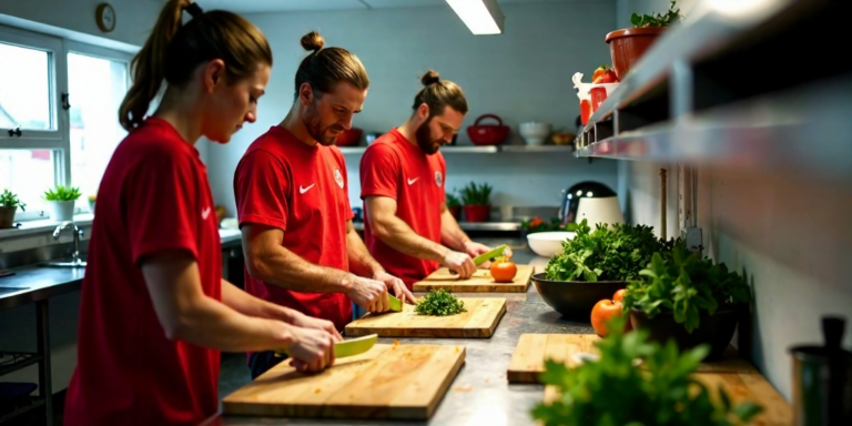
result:
[[[645,278],[627,285],[625,310],[640,310],[649,317],[674,314],[674,322],[689,333],[698,328],[702,312],[713,315],[720,306],[751,302],[751,290],[742,276],[728,271],[724,263],[698,258],[682,246],[665,256],[655,253],[639,275]]]

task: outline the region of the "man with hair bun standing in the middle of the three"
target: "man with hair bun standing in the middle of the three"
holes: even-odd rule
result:
[[[403,301],[414,296],[353,229],[346,163],[334,145],[361,112],[367,71],[349,51],[323,49],[315,31],[301,43],[311,53],[296,71],[290,113],[248,146],[234,175],[245,290],[343,329],[353,302],[385,312],[388,291]],[[283,359],[250,353],[252,378]]]

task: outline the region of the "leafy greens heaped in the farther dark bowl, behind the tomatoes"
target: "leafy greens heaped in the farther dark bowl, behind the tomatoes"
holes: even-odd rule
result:
[[[562,253],[548,262],[550,281],[628,281],[639,276],[656,252],[669,252],[680,240],[663,241],[652,226],[598,224],[591,231],[584,219],[572,240],[562,242]]]

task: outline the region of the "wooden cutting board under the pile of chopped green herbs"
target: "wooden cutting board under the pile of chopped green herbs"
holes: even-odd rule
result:
[[[503,314],[506,298],[459,297],[467,312],[449,316],[418,315],[414,305],[403,305],[403,312],[366,314],[346,325],[346,336],[379,337],[490,337]]]

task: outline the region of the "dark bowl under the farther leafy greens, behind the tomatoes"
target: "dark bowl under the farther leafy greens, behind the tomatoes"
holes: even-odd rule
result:
[[[591,308],[595,304],[612,298],[617,291],[627,285],[625,281],[550,281],[540,272],[532,275],[532,283],[541,298],[567,320],[591,322]]]

